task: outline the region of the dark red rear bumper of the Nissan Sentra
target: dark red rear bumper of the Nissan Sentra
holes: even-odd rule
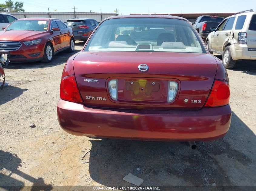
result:
[[[231,122],[229,105],[194,111],[103,110],[60,99],[58,121],[79,136],[168,141],[211,141],[225,135]]]

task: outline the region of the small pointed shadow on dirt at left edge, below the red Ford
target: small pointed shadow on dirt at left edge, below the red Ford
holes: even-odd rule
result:
[[[2,90],[0,88],[0,95],[1,95],[0,105],[15,99],[16,97],[20,96],[21,94],[23,94],[24,91],[27,91],[27,90],[28,89],[22,89],[12,85],[8,85],[8,82],[5,82],[4,88]]]

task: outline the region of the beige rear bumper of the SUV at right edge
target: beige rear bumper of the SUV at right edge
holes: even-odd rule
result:
[[[247,44],[235,43],[230,45],[233,60],[256,60],[256,51],[248,50]]]

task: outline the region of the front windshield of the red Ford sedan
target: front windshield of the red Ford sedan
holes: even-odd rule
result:
[[[48,21],[40,20],[17,20],[10,24],[6,30],[35,30],[35,31],[47,31]]]

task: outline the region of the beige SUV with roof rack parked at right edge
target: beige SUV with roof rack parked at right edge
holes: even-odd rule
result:
[[[222,55],[225,68],[233,68],[236,60],[256,60],[256,12],[252,9],[227,17],[210,30],[206,47],[211,54]]]

